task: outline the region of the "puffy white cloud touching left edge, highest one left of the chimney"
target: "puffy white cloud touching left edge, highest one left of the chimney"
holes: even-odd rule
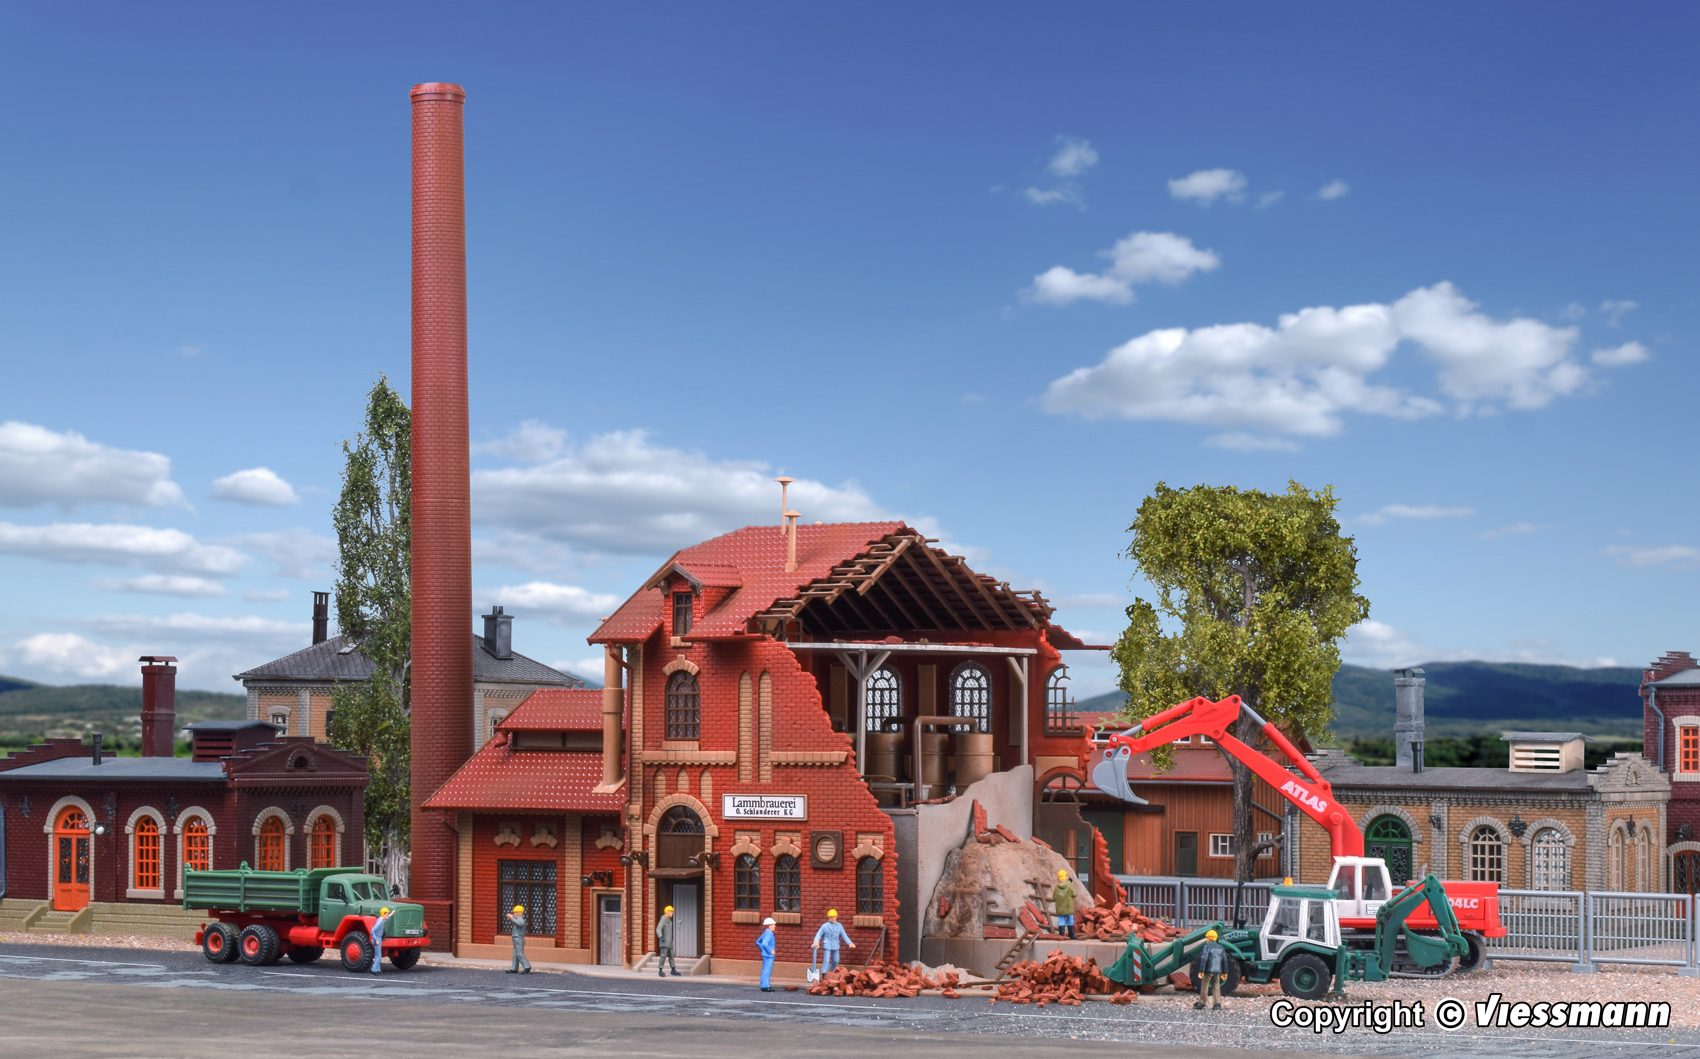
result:
[[[0,423],[0,507],[131,503],[168,507],[184,491],[158,452],[112,449],[66,430]]]

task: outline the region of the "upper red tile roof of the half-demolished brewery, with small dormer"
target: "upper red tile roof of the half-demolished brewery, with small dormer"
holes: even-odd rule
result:
[[[731,586],[709,614],[692,629],[694,636],[736,636],[750,619],[775,600],[797,592],[833,571],[833,566],[858,556],[887,534],[908,529],[901,522],[831,522],[797,527],[797,569],[785,571],[785,530],[779,525],[746,525],[692,544],[661,564],[658,576],[675,563],[699,576],[704,585]],[[649,578],[646,585],[653,585]],[[661,626],[661,593],[639,588],[620,603],[614,615],[590,636],[593,644],[639,643]]]

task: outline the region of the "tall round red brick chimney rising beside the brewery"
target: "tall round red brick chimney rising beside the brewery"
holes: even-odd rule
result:
[[[413,870],[427,918],[454,899],[456,836],[420,806],[473,756],[466,170],[459,85],[413,85]],[[437,906],[437,903],[444,903]],[[442,923],[447,935],[447,923]]]

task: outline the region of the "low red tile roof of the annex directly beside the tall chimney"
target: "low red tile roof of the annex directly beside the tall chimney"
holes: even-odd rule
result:
[[[461,765],[427,809],[478,813],[609,813],[626,806],[626,789],[592,794],[602,782],[602,755],[578,750],[513,750],[490,743]]]

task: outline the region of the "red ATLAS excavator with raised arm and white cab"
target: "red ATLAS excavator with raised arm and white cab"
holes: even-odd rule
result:
[[[1261,726],[1263,738],[1292,762],[1299,775],[1294,775],[1266,755],[1232,736],[1231,729],[1241,714],[1250,716]],[[1261,777],[1282,797],[1328,831],[1334,855],[1334,867],[1328,875],[1328,889],[1340,894],[1343,940],[1348,945],[1353,945],[1353,942],[1372,943],[1375,935],[1375,911],[1396,892],[1387,874],[1387,862],[1380,857],[1363,855],[1363,831],[1358,830],[1352,814],[1334,801],[1333,785],[1323,779],[1323,773],[1299,753],[1275,724],[1260,717],[1256,711],[1239,700],[1239,695],[1229,695],[1221,702],[1204,697],[1188,699],[1146,717],[1127,731],[1114,734],[1100,733],[1093,736],[1091,746],[1081,755],[1081,770],[1098,790],[1127,802],[1137,802],[1141,799],[1134,796],[1127,782],[1129,758],[1154,746],[1195,734],[1207,736],[1216,743],[1217,750],[1244,763],[1246,768]],[[1469,954],[1459,959],[1457,971],[1474,971],[1484,955],[1482,938],[1503,938],[1506,935],[1504,926],[1499,923],[1499,884],[1448,881],[1442,886],[1469,943]],[[1428,906],[1423,906],[1408,923],[1418,930],[1438,928]],[[1443,971],[1452,971],[1450,962]],[[1435,974],[1435,971],[1423,974]]]

